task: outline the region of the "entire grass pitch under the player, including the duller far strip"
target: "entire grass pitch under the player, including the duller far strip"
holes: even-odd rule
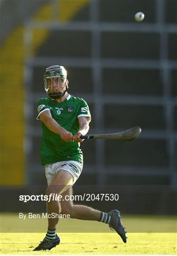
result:
[[[111,231],[106,224],[97,221],[61,219],[57,229],[61,239],[60,245],[53,248],[51,251],[33,252],[33,248],[36,247],[45,236],[47,219],[22,220],[17,218],[17,214],[3,213],[1,214],[0,224],[3,232],[0,233],[0,254],[177,254],[177,224],[175,217],[126,215],[123,218],[123,222],[126,226],[128,237],[126,244],[123,243],[118,234],[115,231]],[[34,233],[31,232],[32,229],[34,229]],[[26,232],[26,230],[28,231]],[[132,230],[134,230],[135,233],[133,233]],[[158,233],[154,233],[154,230],[158,230]],[[166,233],[162,233],[160,230]]]

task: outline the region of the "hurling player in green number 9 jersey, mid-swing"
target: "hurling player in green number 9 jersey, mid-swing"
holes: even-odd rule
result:
[[[48,97],[37,101],[37,119],[42,121],[41,163],[45,165],[48,183],[46,195],[62,195],[60,202],[47,202],[48,215],[69,214],[74,219],[107,223],[126,243],[126,231],[118,210],[106,213],[65,200],[66,195],[72,195],[72,186],[83,169],[83,153],[80,149],[83,139],[80,136],[88,132],[91,114],[83,99],[68,94],[67,71],[63,66],[46,68],[44,85]],[[59,245],[60,239],[56,234],[58,221],[57,216],[48,218],[46,236],[34,251],[51,250]]]

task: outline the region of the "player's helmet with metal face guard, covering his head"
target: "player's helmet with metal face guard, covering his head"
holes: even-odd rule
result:
[[[51,99],[60,99],[68,89],[67,71],[63,66],[55,65],[46,68],[43,81],[47,96]],[[61,91],[60,88],[63,90]]]

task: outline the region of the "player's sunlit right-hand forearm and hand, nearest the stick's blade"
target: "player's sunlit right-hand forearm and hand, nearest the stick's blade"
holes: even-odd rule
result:
[[[79,117],[79,129],[75,136],[73,136],[73,140],[76,142],[82,142],[84,139],[80,139],[81,135],[86,135],[89,131],[89,117]]]

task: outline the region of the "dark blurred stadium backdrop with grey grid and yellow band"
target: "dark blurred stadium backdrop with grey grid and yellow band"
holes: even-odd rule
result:
[[[105,211],[177,213],[177,1],[1,0],[0,9],[0,211],[45,210],[18,195],[46,188],[35,103],[45,67],[60,64],[69,93],[90,106],[90,134],[143,130],[133,142],[84,141],[75,193],[118,192],[116,206],[90,202]]]

